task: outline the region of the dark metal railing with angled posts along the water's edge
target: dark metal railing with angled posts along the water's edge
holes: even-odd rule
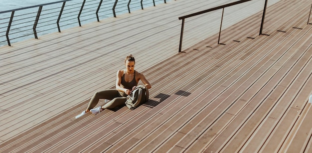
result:
[[[10,40],[38,33],[61,32],[62,28],[74,27],[78,22],[100,22],[100,17],[117,17],[116,13],[126,13],[130,8],[144,9],[144,6],[156,6],[166,0],[61,0],[40,5],[28,6],[0,12],[0,45]],[[10,38],[12,35],[16,37]]]

